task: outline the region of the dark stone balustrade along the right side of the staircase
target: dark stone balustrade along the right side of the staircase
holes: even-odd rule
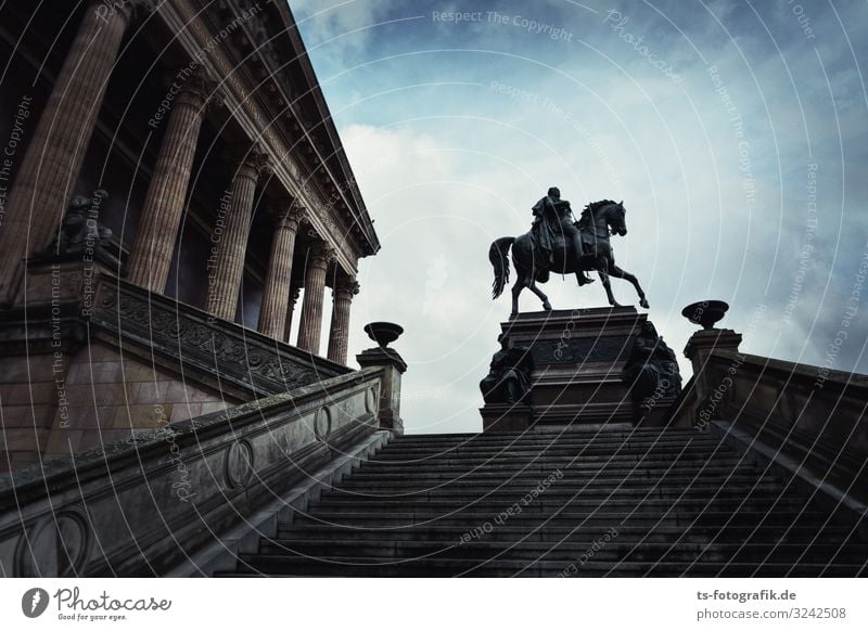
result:
[[[673,404],[674,425],[732,423],[819,479],[868,500],[868,377],[714,350]]]

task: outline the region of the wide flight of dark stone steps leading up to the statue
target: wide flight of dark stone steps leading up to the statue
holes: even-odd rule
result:
[[[692,429],[403,436],[222,576],[865,576],[857,523]]]

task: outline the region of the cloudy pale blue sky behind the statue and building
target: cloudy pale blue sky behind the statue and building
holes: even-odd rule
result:
[[[526,231],[550,185],[574,207],[624,199],[618,263],[679,355],[681,308],[716,298],[746,352],[868,372],[868,3],[291,7],[383,245],[353,318],[405,326],[408,432],[481,428],[510,311],[489,298],[488,246]],[[556,308],[607,304],[599,281],[544,289]],[[369,345],[354,332],[352,353]]]

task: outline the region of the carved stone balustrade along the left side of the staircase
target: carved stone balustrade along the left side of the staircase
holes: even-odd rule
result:
[[[0,477],[0,572],[165,574],[380,428],[386,372],[365,369]]]

